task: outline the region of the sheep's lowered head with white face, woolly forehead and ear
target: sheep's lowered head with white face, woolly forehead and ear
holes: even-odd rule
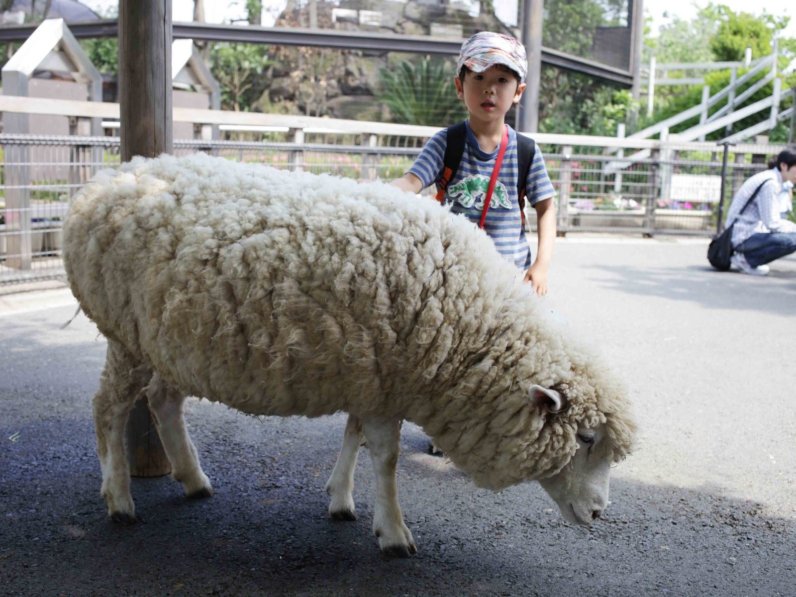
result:
[[[564,415],[568,398],[564,392],[531,388],[531,400],[547,410],[548,416]],[[586,417],[576,423],[575,454],[563,469],[540,485],[558,505],[564,520],[582,526],[591,525],[608,504],[611,465],[621,460],[630,449],[635,427],[626,413],[600,412],[599,419]]]

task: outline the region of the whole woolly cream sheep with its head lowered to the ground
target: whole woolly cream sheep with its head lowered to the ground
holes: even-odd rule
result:
[[[602,513],[610,466],[634,442],[622,385],[547,322],[486,234],[390,185],[205,154],[134,158],[76,194],[63,252],[107,338],[93,404],[114,521],[135,521],[124,428],[144,394],[192,497],[213,488],[185,396],[257,416],[349,413],[330,516],[356,517],[364,435],[373,532],[392,556],[417,551],[396,495],[404,419],[475,485],[538,480],[579,525]]]

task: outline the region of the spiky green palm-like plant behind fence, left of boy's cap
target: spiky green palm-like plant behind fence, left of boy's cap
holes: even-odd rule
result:
[[[403,124],[440,126],[466,118],[464,102],[456,97],[454,75],[443,61],[424,57],[417,64],[404,60],[394,72],[380,71],[379,99]]]

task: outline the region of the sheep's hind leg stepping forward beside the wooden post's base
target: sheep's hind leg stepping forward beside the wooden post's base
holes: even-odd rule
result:
[[[150,411],[154,416],[163,450],[171,462],[171,477],[182,483],[188,497],[210,497],[213,486],[202,472],[197,449],[193,446],[182,416],[185,396],[154,373],[146,388]]]

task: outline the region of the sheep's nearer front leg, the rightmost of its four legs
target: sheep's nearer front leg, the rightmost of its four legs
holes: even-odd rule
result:
[[[400,443],[400,419],[362,419],[376,473],[376,506],[373,509],[373,534],[385,556],[408,557],[417,546],[398,504],[396,466]]]

